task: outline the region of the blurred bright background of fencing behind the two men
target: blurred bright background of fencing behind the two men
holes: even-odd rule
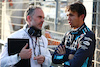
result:
[[[40,6],[45,14],[42,34],[48,39],[48,49],[51,54],[60,44],[64,34],[70,30],[65,13],[66,5],[81,1],[87,10],[86,25],[96,35],[96,49],[93,57],[93,67],[100,67],[100,0],[0,0],[0,53],[6,38],[13,32],[23,28],[26,23],[24,11],[30,3]],[[54,67],[63,67],[52,64]]]

